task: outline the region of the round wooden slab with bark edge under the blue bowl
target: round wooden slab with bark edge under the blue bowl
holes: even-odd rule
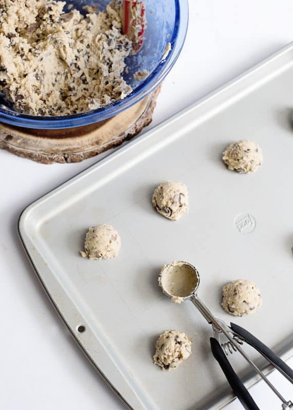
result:
[[[42,163],[80,162],[122,144],[150,124],[160,89],[128,110],[85,127],[34,130],[0,123],[0,148]]]

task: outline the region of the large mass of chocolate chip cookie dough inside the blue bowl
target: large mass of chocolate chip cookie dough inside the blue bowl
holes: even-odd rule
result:
[[[65,2],[0,2],[0,93],[20,113],[68,115],[124,98],[122,77],[132,50],[122,34],[119,0],[106,11]]]

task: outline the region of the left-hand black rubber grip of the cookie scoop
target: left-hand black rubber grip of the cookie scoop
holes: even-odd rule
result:
[[[260,410],[256,402],[250,396],[247,388],[233,370],[218,340],[213,337],[209,340],[214,358],[219,362],[233,392],[238,397],[245,410]]]

